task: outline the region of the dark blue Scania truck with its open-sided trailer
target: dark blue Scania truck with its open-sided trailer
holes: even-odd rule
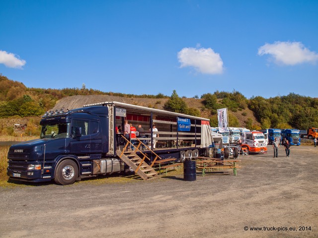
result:
[[[145,144],[145,150],[135,146],[134,152],[134,156],[143,158],[142,162],[133,163],[124,155],[123,148],[129,142],[126,143],[121,134],[116,134],[116,127],[124,126],[125,119],[145,128],[142,141],[149,143]],[[153,136],[156,133],[152,130],[155,123],[160,137]],[[152,168],[138,165],[144,163],[146,157],[148,164],[169,158],[183,162],[186,157],[209,153],[212,145],[209,119],[119,102],[46,113],[40,125],[39,139],[10,147],[7,166],[10,179],[30,182],[54,180],[66,185],[81,178],[131,171],[132,168],[135,172],[143,170],[146,173]],[[154,138],[157,141],[155,152]]]

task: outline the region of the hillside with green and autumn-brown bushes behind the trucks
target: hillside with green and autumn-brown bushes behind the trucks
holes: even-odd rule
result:
[[[85,104],[105,101],[118,101],[209,118],[212,126],[217,126],[217,109],[227,107],[229,124],[233,127],[318,127],[318,98],[294,93],[269,99],[260,96],[246,99],[237,91],[216,91],[207,92],[200,98],[180,98],[176,91],[173,91],[170,97],[161,93],[134,95],[102,92],[86,89],[84,86],[64,89],[28,88],[23,83],[0,74],[0,134],[6,133],[7,128],[15,123],[27,123],[30,118],[37,123],[45,111],[61,108],[71,110]],[[12,129],[9,131],[12,132]]]

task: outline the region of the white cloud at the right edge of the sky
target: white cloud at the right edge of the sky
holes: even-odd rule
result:
[[[258,55],[270,55],[277,64],[295,65],[316,63],[318,54],[305,48],[301,42],[274,42],[258,48]]]

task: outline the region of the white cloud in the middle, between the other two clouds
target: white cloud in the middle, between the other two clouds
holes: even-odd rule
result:
[[[178,52],[180,67],[194,67],[197,71],[205,74],[221,74],[223,72],[223,61],[220,54],[211,48],[195,49],[183,48]]]

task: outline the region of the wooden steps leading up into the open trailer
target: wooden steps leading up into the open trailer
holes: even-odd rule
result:
[[[140,158],[134,151],[124,152],[117,150],[116,152],[119,158],[142,179],[147,180],[158,177],[157,172],[144,161],[145,158]]]

